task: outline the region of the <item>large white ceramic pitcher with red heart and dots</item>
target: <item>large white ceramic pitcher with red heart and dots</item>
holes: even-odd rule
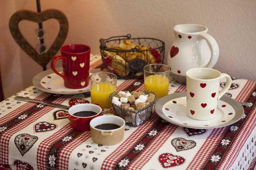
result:
[[[174,80],[186,84],[186,71],[196,67],[212,68],[219,57],[215,39],[207,33],[206,26],[180,24],[173,28],[175,40],[169,51],[167,63]],[[208,45],[209,44],[209,45]]]

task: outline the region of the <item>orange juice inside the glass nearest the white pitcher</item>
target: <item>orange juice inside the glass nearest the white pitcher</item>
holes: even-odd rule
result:
[[[169,91],[169,79],[161,75],[150,75],[144,81],[145,90],[156,93],[156,98],[164,97]]]

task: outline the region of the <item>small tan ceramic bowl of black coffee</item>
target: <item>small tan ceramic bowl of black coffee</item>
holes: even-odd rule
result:
[[[104,129],[103,125],[114,124],[113,128]],[[102,125],[102,128],[100,126]],[[124,138],[124,119],[114,115],[103,115],[92,119],[90,129],[92,141],[96,144],[113,145]],[[99,129],[100,128],[100,129]]]

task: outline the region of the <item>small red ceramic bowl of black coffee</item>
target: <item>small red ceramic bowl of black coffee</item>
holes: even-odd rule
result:
[[[101,113],[102,109],[97,103],[77,104],[68,109],[68,120],[73,129],[87,131],[90,130],[91,120],[100,116]]]

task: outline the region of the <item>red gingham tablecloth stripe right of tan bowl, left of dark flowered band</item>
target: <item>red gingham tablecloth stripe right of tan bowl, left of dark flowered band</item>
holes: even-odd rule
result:
[[[159,117],[154,113],[146,123],[140,125],[140,127],[136,129],[132,135],[130,135],[114,152],[108,155],[108,157],[103,161],[101,169],[114,169],[117,161],[129,152],[131,147],[136,144],[140,138],[143,137],[145,133],[159,120]]]

